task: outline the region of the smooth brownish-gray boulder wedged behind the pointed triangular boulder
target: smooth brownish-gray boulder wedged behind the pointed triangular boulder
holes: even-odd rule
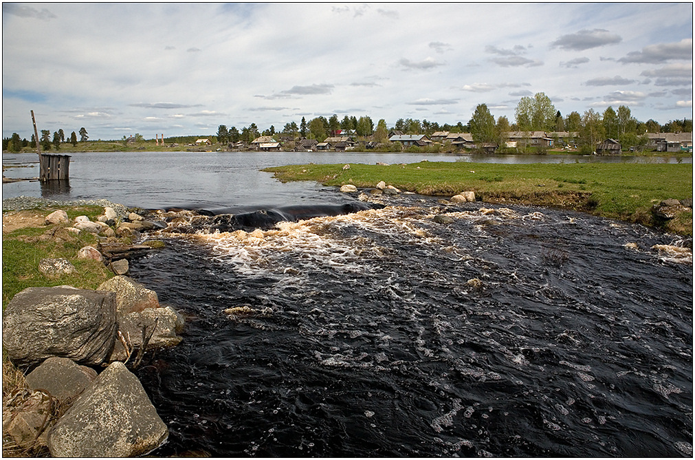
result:
[[[70,404],[97,378],[97,371],[72,359],[51,357],[26,376],[34,391],[51,393],[61,404]]]

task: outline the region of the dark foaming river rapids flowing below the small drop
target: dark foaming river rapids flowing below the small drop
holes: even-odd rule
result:
[[[692,255],[655,247],[687,242],[386,204],[152,236],[132,277],[188,320],[138,370],[170,429],[154,455],[692,457]]]

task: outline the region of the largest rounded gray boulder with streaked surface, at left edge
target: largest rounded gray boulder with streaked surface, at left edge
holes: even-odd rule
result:
[[[115,297],[70,286],[26,288],[3,313],[3,350],[19,365],[51,356],[99,365],[115,343]]]

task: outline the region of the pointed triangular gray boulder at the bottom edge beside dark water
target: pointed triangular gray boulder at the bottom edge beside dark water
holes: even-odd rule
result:
[[[56,422],[48,445],[53,457],[137,457],[168,435],[138,377],[116,362]]]

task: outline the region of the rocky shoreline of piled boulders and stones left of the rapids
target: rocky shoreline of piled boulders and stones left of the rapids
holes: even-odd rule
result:
[[[82,215],[71,222],[59,209],[41,222],[48,228],[42,236],[19,238],[61,240],[96,233],[101,236],[97,247],[82,247],[76,258],[101,261],[117,276],[96,290],[26,288],[8,302],[3,350],[28,374],[17,377],[15,388],[6,388],[8,363],[3,360],[3,454],[147,454],[166,441],[168,429],[131,371],[146,353],[180,343],[183,319],[171,306],[159,304],[154,290],[124,273],[128,258],[152,249],[131,240],[158,227],[108,200],[17,197],[3,200],[3,213],[44,206],[103,206],[104,215],[94,221]],[[38,270],[47,279],[76,272],[66,258],[42,258]]]

